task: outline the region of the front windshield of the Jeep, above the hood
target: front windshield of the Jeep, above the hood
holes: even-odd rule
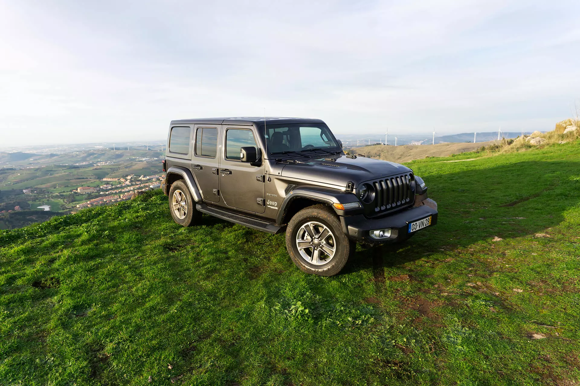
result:
[[[269,154],[302,153],[316,150],[339,151],[340,146],[324,123],[266,125]]]

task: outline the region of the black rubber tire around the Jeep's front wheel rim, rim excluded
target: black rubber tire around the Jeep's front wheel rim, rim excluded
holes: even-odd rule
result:
[[[297,236],[302,226],[309,222],[320,223],[332,233],[333,240],[335,240],[335,252],[328,263],[311,264],[300,255]],[[320,276],[332,276],[338,274],[354,254],[356,243],[349,240],[343,233],[338,216],[331,208],[326,205],[313,205],[299,211],[288,223],[286,248],[292,258],[292,262],[303,272]]]

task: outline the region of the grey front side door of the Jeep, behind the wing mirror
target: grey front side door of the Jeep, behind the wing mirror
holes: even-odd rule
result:
[[[253,166],[240,161],[240,148],[255,146],[255,133],[251,127],[226,127],[223,131],[222,154],[220,155],[219,183],[222,198],[227,207],[243,211],[264,213],[265,183],[264,162]]]

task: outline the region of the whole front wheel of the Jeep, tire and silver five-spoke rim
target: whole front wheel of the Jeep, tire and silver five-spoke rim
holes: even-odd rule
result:
[[[338,216],[325,205],[302,209],[288,223],[286,248],[294,264],[306,273],[336,275],[355,247],[343,233]]]

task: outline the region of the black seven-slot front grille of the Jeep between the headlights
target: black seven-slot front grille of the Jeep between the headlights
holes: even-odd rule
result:
[[[395,175],[372,182],[375,188],[375,214],[404,207],[415,199],[412,173]]]

